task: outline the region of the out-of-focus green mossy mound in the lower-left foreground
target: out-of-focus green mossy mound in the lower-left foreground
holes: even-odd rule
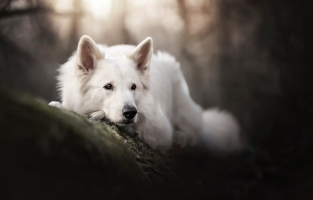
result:
[[[15,92],[1,90],[0,99],[1,180],[11,198],[89,199],[103,188],[106,197],[119,197],[151,184],[109,126]]]

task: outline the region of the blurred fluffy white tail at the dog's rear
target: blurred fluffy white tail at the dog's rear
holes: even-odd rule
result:
[[[203,111],[201,143],[219,152],[238,152],[242,149],[240,126],[237,119],[226,110],[210,108]]]

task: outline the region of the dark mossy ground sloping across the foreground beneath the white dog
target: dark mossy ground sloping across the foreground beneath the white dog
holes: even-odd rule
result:
[[[164,155],[44,100],[0,93],[5,199],[262,199],[268,177],[281,177],[263,154],[224,159],[187,148]]]

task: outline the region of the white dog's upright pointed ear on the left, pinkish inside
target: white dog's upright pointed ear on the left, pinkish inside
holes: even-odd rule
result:
[[[104,57],[93,39],[87,35],[80,38],[77,47],[77,70],[88,74],[94,70],[96,62]]]

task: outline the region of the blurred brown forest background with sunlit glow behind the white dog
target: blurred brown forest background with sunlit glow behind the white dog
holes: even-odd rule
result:
[[[57,100],[57,66],[81,35],[107,45],[151,36],[155,51],[180,61],[197,103],[230,110],[244,133],[258,141],[275,135],[265,144],[288,149],[295,133],[300,143],[310,141],[303,136],[312,102],[307,7],[281,0],[0,0],[0,83]]]

